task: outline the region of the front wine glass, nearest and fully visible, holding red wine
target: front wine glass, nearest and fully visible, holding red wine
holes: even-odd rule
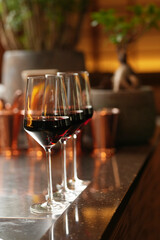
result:
[[[70,127],[65,84],[60,76],[28,77],[24,129],[45,150],[47,162],[48,195],[43,203],[30,207],[33,213],[59,215],[66,208],[53,198],[51,149]]]

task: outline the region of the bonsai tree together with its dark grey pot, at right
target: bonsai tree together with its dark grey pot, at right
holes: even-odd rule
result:
[[[135,42],[151,28],[159,28],[160,8],[154,4],[127,7],[124,15],[114,9],[92,14],[92,25],[104,27],[115,44],[120,67],[112,77],[113,90],[92,90],[93,106],[120,109],[118,144],[139,144],[148,141],[155,129],[154,93],[150,87],[139,87],[136,73],[128,63],[127,54]],[[123,89],[123,90],[122,90]],[[124,91],[124,90],[129,91]]]

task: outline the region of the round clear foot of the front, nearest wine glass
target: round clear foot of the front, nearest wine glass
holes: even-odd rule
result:
[[[47,202],[35,203],[30,207],[31,213],[35,214],[52,214],[55,216],[61,215],[68,204],[53,203],[53,205],[48,205]]]

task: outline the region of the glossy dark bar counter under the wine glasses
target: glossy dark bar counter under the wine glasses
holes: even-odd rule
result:
[[[143,230],[143,227],[135,228],[139,217],[137,214],[133,224],[131,212],[140,210],[138,203],[149,188],[149,181],[145,184],[143,175],[147,170],[147,176],[151,175],[154,180],[152,170],[157,169],[157,174],[160,167],[159,156],[160,144],[121,147],[112,157],[104,152],[97,156],[93,152],[80,151],[78,176],[91,182],[62,215],[54,218],[34,215],[29,210],[32,203],[44,200],[46,194],[45,156],[37,157],[27,152],[14,157],[1,154],[0,239],[145,239],[143,235],[140,238],[136,235],[140,234],[139,229]],[[60,151],[56,151],[53,158],[55,190],[55,184],[61,182]],[[148,170],[148,165],[153,163],[157,164],[157,168],[154,165]],[[138,193],[137,205],[131,205],[130,201],[141,179],[143,187]],[[156,192],[158,190],[157,187]],[[128,206],[130,208],[126,210]],[[143,210],[145,213],[145,209]],[[159,208],[157,211],[159,212]],[[131,231],[132,226],[134,231]],[[147,229],[145,230],[147,233]],[[132,235],[127,235],[131,232]]]

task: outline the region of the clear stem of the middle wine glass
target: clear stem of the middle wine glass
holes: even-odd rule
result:
[[[67,186],[67,165],[66,165],[66,144],[67,141],[65,139],[61,140],[61,146],[62,146],[62,153],[63,153],[63,157],[62,157],[62,185],[64,190],[68,189]]]

